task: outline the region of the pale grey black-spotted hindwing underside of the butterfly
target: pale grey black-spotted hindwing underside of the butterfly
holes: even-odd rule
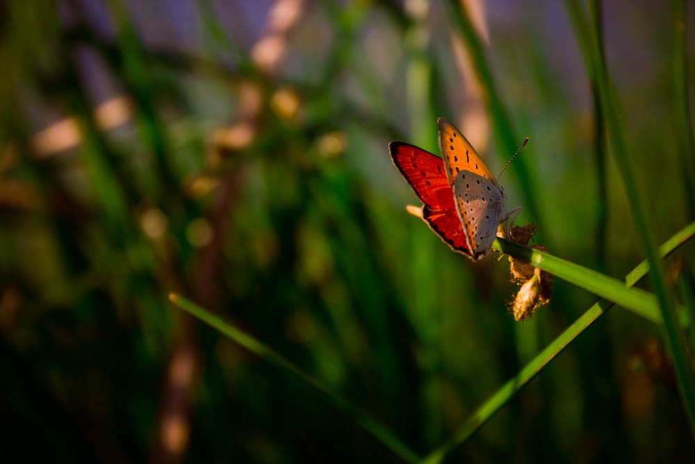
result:
[[[454,182],[454,197],[466,233],[466,245],[471,256],[486,255],[497,236],[497,227],[505,212],[505,193],[496,182],[462,171]]]

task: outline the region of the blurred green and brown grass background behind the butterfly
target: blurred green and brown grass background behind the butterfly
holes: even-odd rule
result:
[[[644,250],[564,3],[464,3],[518,144],[531,138],[502,177],[517,222],[623,278]],[[695,218],[671,10],[604,3],[662,242]],[[595,296],[556,280],[516,323],[506,258],[452,253],[404,209],[417,198],[386,145],[438,152],[437,116],[493,172],[512,155],[450,19],[440,0],[0,1],[0,456],[401,462],[170,291],[421,454],[587,310]],[[667,262],[674,286],[692,288],[693,251]],[[688,462],[660,330],[612,310],[450,461]]]

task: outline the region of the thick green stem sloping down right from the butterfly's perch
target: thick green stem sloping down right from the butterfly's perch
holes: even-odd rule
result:
[[[648,291],[626,287],[620,280],[509,240],[496,239],[493,248],[530,262],[543,271],[591,291],[651,321],[662,321],[657,299]]]

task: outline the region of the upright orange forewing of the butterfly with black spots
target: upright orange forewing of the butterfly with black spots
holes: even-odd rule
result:
[[[446,165],[449,185],[454,184],[456,175],[462,170],[471,171],[497,184],[497,177],[485,166],[473,149],[473,145],[466,140],[459,129],[444,118],[438,118],[436,123],[439,126],[439,150]]]

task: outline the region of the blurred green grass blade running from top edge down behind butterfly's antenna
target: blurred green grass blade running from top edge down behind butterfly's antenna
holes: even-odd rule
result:
[[[473,27],[471,18],[468,17],[468,13],[461,5],[461,1],[449,0],[447,6],[449,7],[450,17],[461,33],[461,38],[463,38],[468,54],[471,56],[473,70],[480,80],[485,104],[493,120],[499,156],[502,162],[505,162],[508,157],[516,152],[518,145],[523,139],[514,134],[511,118],[509,118],[507,109],[505,109],[505,105],[502,103],[502,98],[492,76],[490,63],[487,61],[485,50]],[[517,157],[514,161],[514,172],[518,177],[519,187],[524,196],[525,207],[528,208],[534,222],[543,230],[541,212],[532,189],[532,186],[535,184],[534,179],[532,179],[530,170],[526,166],[523,157]]]

